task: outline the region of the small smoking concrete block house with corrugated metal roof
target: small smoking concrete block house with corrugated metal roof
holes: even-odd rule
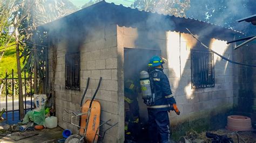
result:
[[[234,59],[233,40],[238,32],[190,18],[159,15],[99,2],[71,15],[42,25],[47,31],[49,84],[55,86],[58,125],[77,127],[62,121],[63,109],[78,110],[90,77],[86,99],[103,77],[96,99],[102,106],[101,120],[118,124],[106,132],[103,142],[124,141],[124,81],[139,80],[153,55],[168,60],[164,72],[170,79],[181,115],[170,113],[173,137],[186,130],[224,127],[226,116],[237,103],[234,89],[241,67],[221,59],[188,34],[190,29],[215,52]],[[57,51],[57,55],[53,54]],[[57,56],[57,58],[56,58]],[[56,69],[53,69],[57,59]],[[52,78],[55,80],[52,80]],[[85,99],[85,100],[86,100]],[[140,119],[147,120],[146,106],[139,97]],[[100,128],[104,131],[104,127]]]

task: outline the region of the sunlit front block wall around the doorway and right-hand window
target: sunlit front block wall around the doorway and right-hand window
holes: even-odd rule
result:
[[[218,114],[212,112],[217,108],[220,112],[232,108],[233,65],[217,55],[214,55],[215,87],[191,89],[190,49],[197,45],[197,41],[190,34],[118,26],[117,45],[118,51],[122,51],[124,47],[160,49],[161,55],[167,58],[164,72],[169,77],[173,96],[181,110],[180,116],[170,113],[172,125],[210,117],[210,114],[213,116]],[[225,41],[211,38],[207,46],[229,59],[233,58],[232,47],[227,46]],[[122,60],[118,62],[124,62]]]

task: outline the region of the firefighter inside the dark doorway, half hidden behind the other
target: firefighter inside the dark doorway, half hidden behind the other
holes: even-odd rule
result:
[[[136,141],[138,138],[139,104],[138,89],[132,80],[125,81],[125,135],[126,139]]]

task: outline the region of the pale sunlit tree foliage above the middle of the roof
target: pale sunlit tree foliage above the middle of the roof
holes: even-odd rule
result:
[[[135,0],[131,7],[146,12],[185,17],[186,10],[190,8],[190,0]]]

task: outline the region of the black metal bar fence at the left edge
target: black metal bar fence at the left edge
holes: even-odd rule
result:
[[[23,71],[22,75],[23,75],[22,77],[23,103],[24,103],[24,111],[26,113],[27,111],[33,109],[33,98],[32,98],[33,77],[32,77],[32,72],[28,72],[26,70]],[[6,109],[5,114],[3,115],[3,118],[6,120],[6,123],[10,123],[10,121],[15,121],[15,120],[17,121],[17,119],[20,120],[19,98],[18,98],[18,78],[14,77],[14,70],[12,69],[11,75],[8,75],[6,71],[5,78],[3,78],[2,81],[4,84],[4,89],[3,89],[4,91],[2,92],[2,95],[1,95],[0,104],[1,104],[1,108]]]

